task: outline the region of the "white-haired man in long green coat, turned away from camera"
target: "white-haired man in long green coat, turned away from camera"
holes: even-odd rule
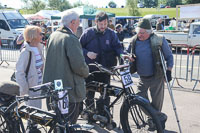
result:
[[[69,112],[64,115],[69,115],[70,123],[75,124],[80,103],[86,97],[84,78],[89,75],[89,69],[75,35],[80,24],[79,15],[74,11],[65,12],[61,23],[62,26],[50,35],[47,42],[43,82],[61,79],[63,87],[72,88],[68,90]]]

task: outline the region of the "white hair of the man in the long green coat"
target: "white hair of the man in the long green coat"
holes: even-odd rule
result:
[[[61,18],[61,24],[63,26],[69,27],[72,20],[77,20],[79,18],[79,14],[75,11],[66,11],[66,13]]]

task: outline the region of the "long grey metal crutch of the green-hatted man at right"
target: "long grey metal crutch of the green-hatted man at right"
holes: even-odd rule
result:
[[[170,95],[171,102],[172,102],[172,105],[173,105],[174,113],[175,113],[176,120],[177,120],[177,123],[178,123],[178,128],[179,128],[180,133],[182,133],[181,126],[180,126],[180,121],[178,119],[178,114],[177,114],[177,111],[176,111],[176,105],[175,105],[175,102],[174,102],[172,88],[171,88],[171,86],[170,86],[170,84],[168,82],[167,75],[166,75],[165,59],[164,59],[163,53],[161,52],[160,49],[159,49],[159,54],[160,54],[160,58],[161,58],[161,63],[162,63],[163,71],[164,71],[165,80],[166,80],[166,83],[167,83],[167,88],[168,88],[168,91],[169,91],[169,95]]]

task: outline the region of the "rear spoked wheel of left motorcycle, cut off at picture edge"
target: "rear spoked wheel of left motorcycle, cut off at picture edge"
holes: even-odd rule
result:
[[[4,113],[0,111],[0,133],[12,133],[8,119]]]

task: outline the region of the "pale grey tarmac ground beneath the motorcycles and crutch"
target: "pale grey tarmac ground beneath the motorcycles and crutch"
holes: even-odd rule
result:
[[[1,63],[1,62],[0,62]],[[10,80],[10,76],[14,72],[15,63],[9,62],[9,66],[4,62],[0,66],[0,82]],[[137,78],[134,78],[135,83],[137,84]],[[180,120],[180,125],[183,133],[199,133],[200,132],[200,84],[198,83],[195,91],[192,91],[192,88],[195,82],[185,82],[184,80],[179,80],[180,84],[184,88],[180,88],[177,85],[177,82],[174,82],[173,87],[173,96],[176,104],[176,109],[178,117]],[[114,120],[119,122],[119,109],[120,104],[115,106],[115,115]],[[176,117],[174,114],[174,109],[171,103],[171,99],[168,93],[168,89],[165,89],[165,100],[163,105],[163,112],[168,115],[168,121],[166,123],[165,133],[178,133],[178,125]],[[84,122],[79,120],[79,122]],[[98,126],[95,126],[95,129],[92,132],[109,132],[107,130],[101,129]],[[110,131],[112,133],[123,131],[115,129]]]

